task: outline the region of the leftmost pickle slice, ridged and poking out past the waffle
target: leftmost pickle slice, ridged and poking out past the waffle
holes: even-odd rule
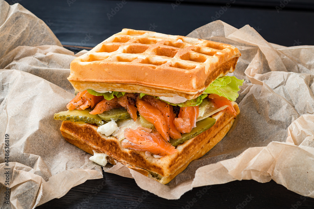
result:
[[[68,110],[58,112],[55,113],[53,118],[55,120],[68,120],[72,122],[84,122],[98,125],[104,124],[98,115],[89,114],[88,110]]]

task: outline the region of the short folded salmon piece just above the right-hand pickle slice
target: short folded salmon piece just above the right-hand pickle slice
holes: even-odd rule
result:
[[[173,123],[181,133],[190,133],[196,127],[198,117],[198,106],[180,107],[178,118]]]

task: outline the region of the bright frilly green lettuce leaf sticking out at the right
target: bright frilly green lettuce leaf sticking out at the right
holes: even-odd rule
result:
[[[203,94],[217,94],[220,97],[226,97],[231,101],[236,101],[239,97],[239,86],[242,85],[244,79],[237,79],[235,76],[223,76],[212,82]]]

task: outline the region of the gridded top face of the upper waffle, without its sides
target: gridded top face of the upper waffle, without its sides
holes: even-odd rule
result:
[[[129,62],[154,69],[205,67],[206,70],[209,63],[217,63],[218,58],[225,57],[234,48],[208,40],[123,29],[81,56],[81,61]]]

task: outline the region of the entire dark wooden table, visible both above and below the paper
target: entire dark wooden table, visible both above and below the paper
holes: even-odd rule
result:
[[[314,45],[311,0],[126,0],[122,7],[121,0],[9,0],[8,3],[22,4],[45,21],[66,48],[75,52],[94,47],[122,28],[187,35],[214,18],[236,28],[249,24],[272,43]],[[227,3],[230,7],[216,16]],[[117,4],[121,8],[111,13]],[[198,187],[179,200],[165,200],[143,191],[133,179],[103,175],[103,179],[88,180],[38,208],[314,208],[314,199],[300,196],[274,181],[262,184],[243,180]]]

